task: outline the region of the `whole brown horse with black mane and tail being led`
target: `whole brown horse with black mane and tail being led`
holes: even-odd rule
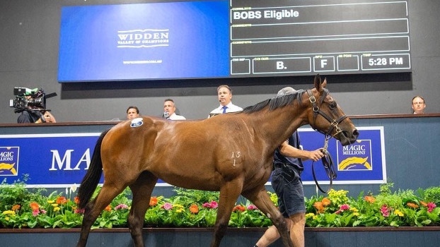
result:
[[[292,246],[284,218],[265,189],[274,150],[305,124],[342,145],[354,143],[358,135],[326,84],[318,75],[311,90],[274,97],[243,112],[199,121],[144,116],[103,132],[79,188],[79,207],[85,212],[77,246],[86,246],[95,219],[127,186],[133,195],[129,229],[134,246],[144,246],[144,215],[158,179],[182,188],[220,191],[211,246],[219,246],[240,194],[272,220],[284,246]],[[88,202],[102,171],[103,188]]]

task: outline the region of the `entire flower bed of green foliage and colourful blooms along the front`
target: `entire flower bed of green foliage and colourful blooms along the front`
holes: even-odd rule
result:
[[[392,192],[392,183],[381,186],[378,195],[367,193],[357,198],[348,191],[330,191],[327,196],[306,198],[306,227],[439,227],[440,187],[417,192]],[[98,193],[100,188],[95,191]],[[76,188],[65,193],[45,189],[30,191],[23,181],[0,187],[0,228],[77,228],[81,227],[83,210],[77,207]],[[176,188],[171,198],[153,196],[145,215],[144,227],[187,228],[213,227],[216,219],[218,192]],[[94,195],[94,196],[95,196]],[[270,193],[277,204],[277,195]],[[127,227],[131,205],[129,190],[124,191],[103,210],[93,229]],[[270,219],[248,200],[233,208],[229,227],[268,227]]]

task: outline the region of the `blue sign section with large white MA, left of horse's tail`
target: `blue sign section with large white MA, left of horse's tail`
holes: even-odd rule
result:
[[[0,135],[0,179],[29,175],[28,186],[81,183],[100,133]]]

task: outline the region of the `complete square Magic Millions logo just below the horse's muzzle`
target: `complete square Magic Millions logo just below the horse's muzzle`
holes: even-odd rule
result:
[[[352,145],[337,146],[338,171],[371,171],[371,140],[357,140]]]

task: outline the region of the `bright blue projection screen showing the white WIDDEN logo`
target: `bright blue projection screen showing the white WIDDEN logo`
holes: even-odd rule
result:
[[[64,6],[58,80],[229,76],[228,12],[228,1]]]

